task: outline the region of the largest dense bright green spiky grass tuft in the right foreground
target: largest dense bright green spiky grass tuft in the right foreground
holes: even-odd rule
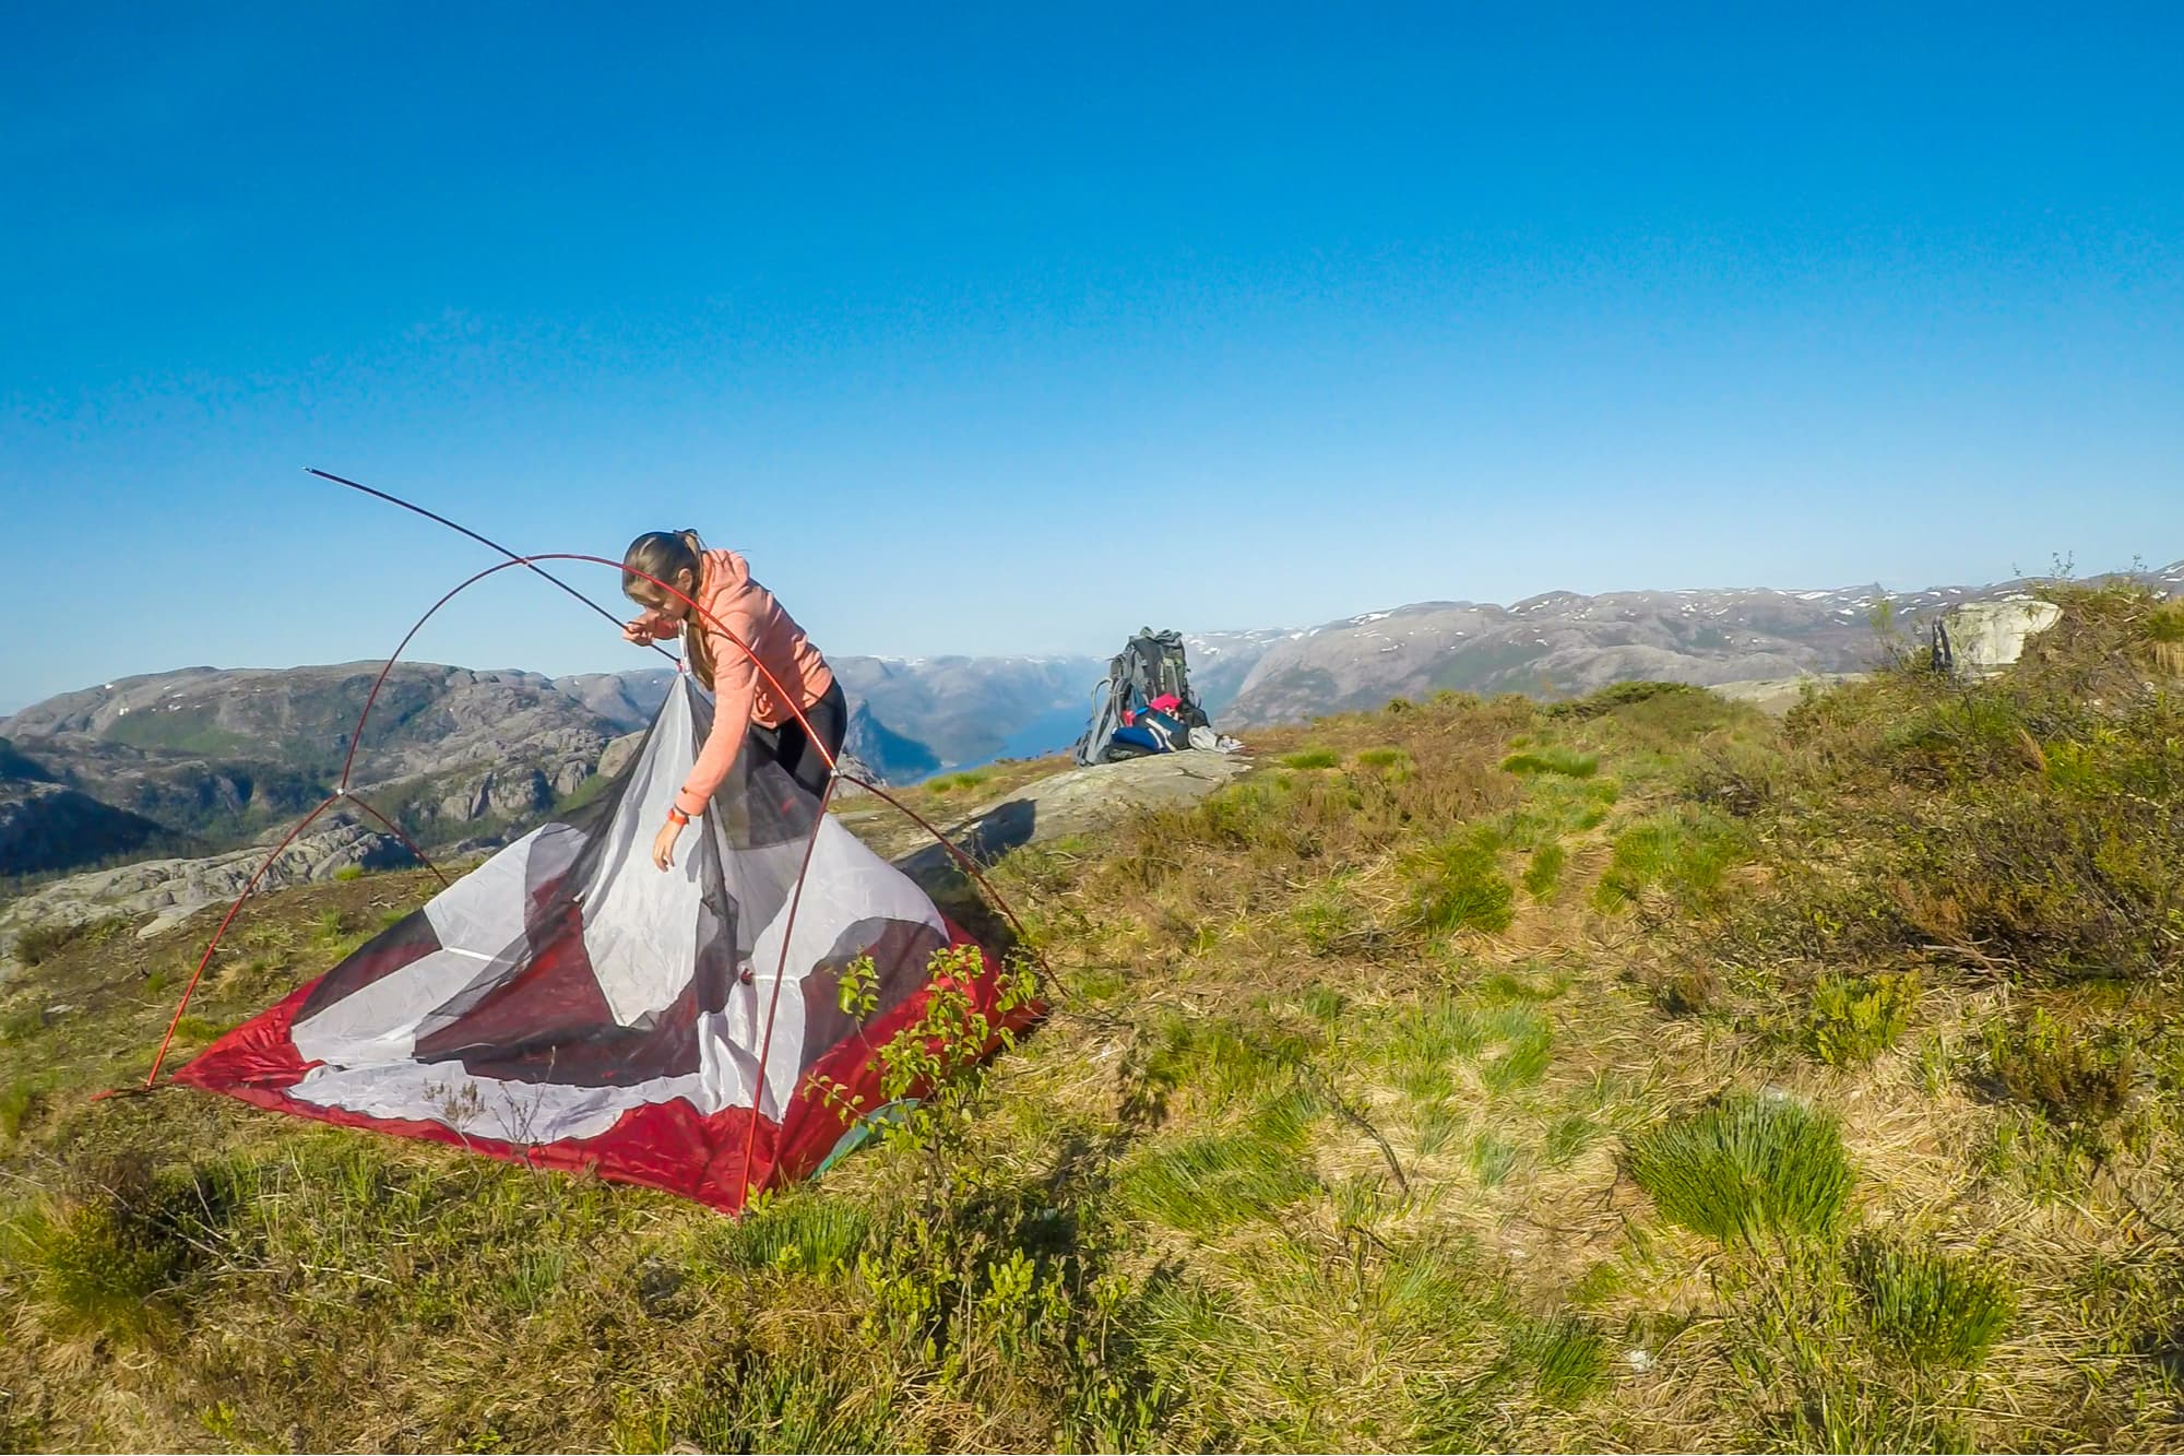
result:
[[[1662,1218],[1721,1242],[1830,1233],[1850,1198],[1835,1119],[1789,1097],[1732,1095],[1651,1128],[1627,1165]]]

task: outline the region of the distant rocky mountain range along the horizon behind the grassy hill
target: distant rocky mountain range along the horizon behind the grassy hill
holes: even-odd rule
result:
[[[2184,592],[2184,562],[2140,573]],[[1918,630],[2038,582],[1891,597]],[[1880,588],[1548,592],[1428,601],[1302,630],[1186,634],[1225,728],[1374,708],[1437,689],[1583,693],[1662,678],[1721,684],[1867,667]],[[1116,647],[1123,643],[1116,641]],[[850,752],[893,783],[1066,748],[1103,658],[834,658]],[[0,877],[218,853],[280,833],[339,780],[378,662],[190,667],[63,693],[0,719]],[[494,842],[579,791],[644,728],[673,669],[544,678],[404,662],[356,745],[354,785],[426,846]],[[612,767],[612,761],[609,761]]]

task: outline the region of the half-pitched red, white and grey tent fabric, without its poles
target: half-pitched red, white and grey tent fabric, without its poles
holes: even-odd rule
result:
[[[882,1115],[880,1049],[939,988],[950,1003],[963,993],[996,1041],[1037,1012],[994,955],[950,955],[970,936],[758,735],[657,870],[646,846],[708,728],[710,700],[677,676],[605,794],[175,1080],[736,1211]],[[850,966],[863,995],[841,995]]]

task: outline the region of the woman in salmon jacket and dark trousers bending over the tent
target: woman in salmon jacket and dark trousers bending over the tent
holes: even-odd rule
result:
[[[675,590],[662,590],[655,582]],[[695,815],[705,813],[714,789],[736,767],[745,737],[756,735],[760,748],[771,748],[773,761],[799,785],[812,794],[826,791],[832,759],[850,726],[841,684],[804,627],[782,610],[773,592],[751,579],[743,555],[708,551],[697,531],[646,531],[622,555],[622,592],[644,608],[642,617],[622,625],[622,638],[651,645],[681,636],[684,660],[712,689],[712,732],[668,809],[668,822],[653,837],[653,864],[662,870],[675,864],[675,842]],[[692,612],[686,597],[703,612]],[[745,654],[736,638],[751,651]],[[758,671],[753,656],[771,673],[771,682]],[[782,695],[804,711],[810,732]],[[819,743],[812,743],[812,735]]]

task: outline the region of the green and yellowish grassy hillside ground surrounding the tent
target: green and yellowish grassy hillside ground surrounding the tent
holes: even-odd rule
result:
[[[1907,654],[1784,721],[1625,684],[1254,735],[1002,859],[1055,1014],[740,1222],[94,1104],[205,931],[57,944],[0,986],[0,1441],[2180,1445],[2169,612],[2084,592],[2011,673]],[[183,1054],[426,894],[253,901]]]

